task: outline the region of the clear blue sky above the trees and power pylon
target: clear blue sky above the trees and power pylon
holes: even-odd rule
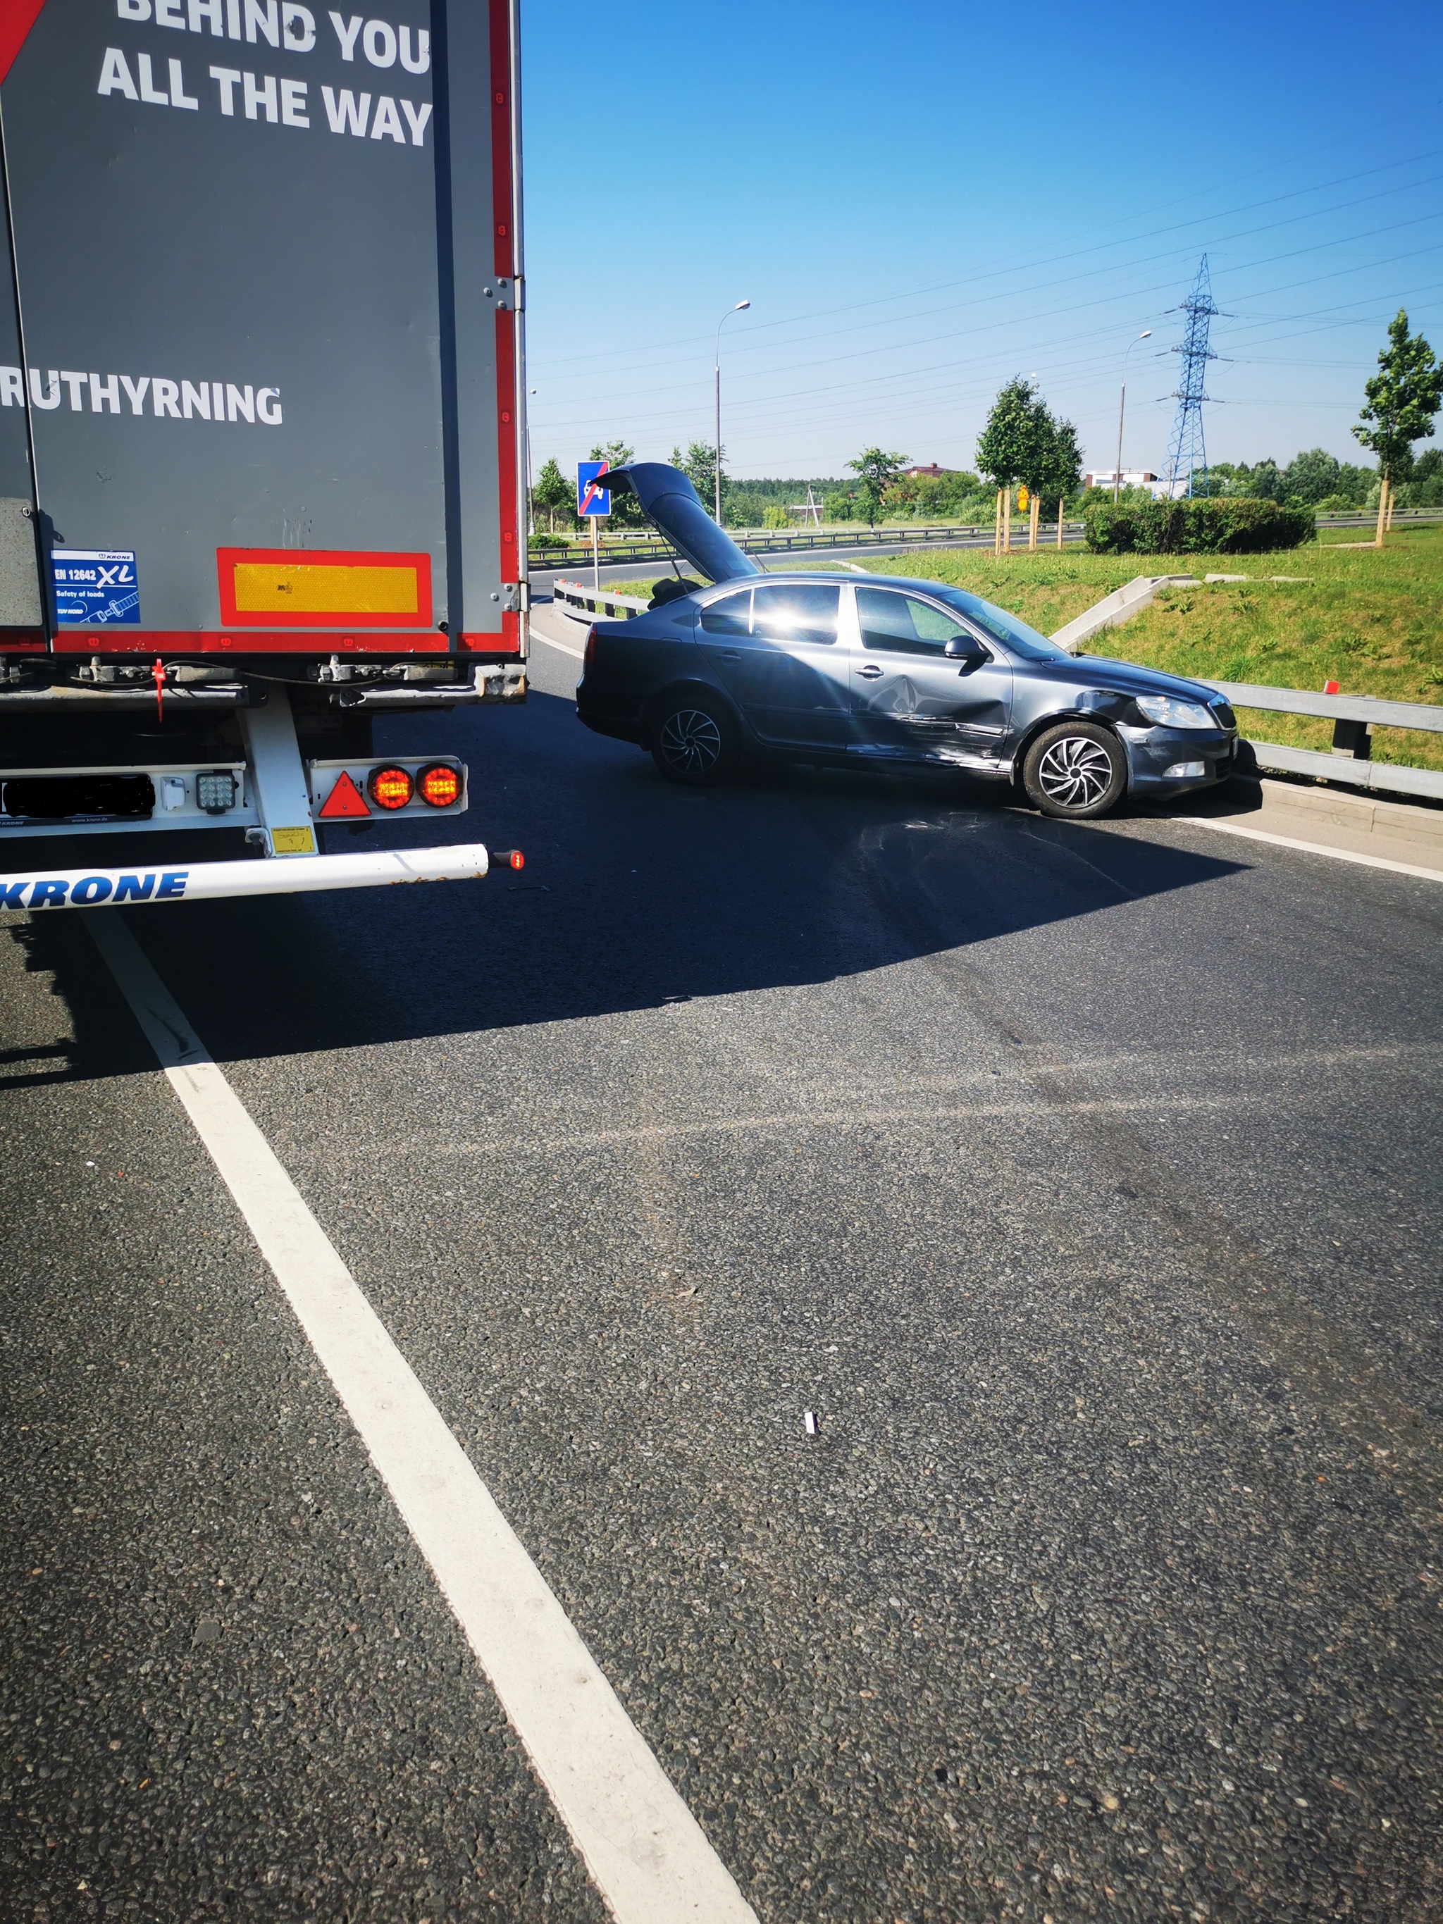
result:
[[[1443,81],[1426,12],[521,0],[533,462],[712,435],[737,475],[864,444],[974,462],[1035,375],[1162,469],[1208,254],[1214,460],[1349,435],[1399,306],[1443,352]],[[1408,54],[1412,44],[1414,54]]]

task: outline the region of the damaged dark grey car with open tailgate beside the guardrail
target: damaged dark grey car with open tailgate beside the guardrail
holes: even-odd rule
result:
[[[1197,681],[1072,656],[937,581],[764,573],[675,468],[606,479],[702,579],[677,568],[643,616],[591,627],[577,716],[673,781],[722,781],[756,756],[950,768],[1087,820],[1233,770],[1233,712]]]

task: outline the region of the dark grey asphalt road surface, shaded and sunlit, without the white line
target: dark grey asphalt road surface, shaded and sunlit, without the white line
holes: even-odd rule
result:
[[[115,914],[758,1918],[1439,1916],[1443,891],[575,668],[383,725],[521,875]],[[0,1911],[600,1918],[83,914],[0,1010]]]

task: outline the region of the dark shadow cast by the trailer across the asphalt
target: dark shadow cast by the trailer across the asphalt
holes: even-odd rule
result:
[[[550,695],[444,727],[389,722],[379,750],[406,752],[412,731],[471,766],[469,814],[412,839],[444,827],[519,847],[525,872],[121,910],[219,1060],[822,983],[1076,918],[1095,918],[1087,943],[1116,945],[1139,904],[1245,866],[1047,822],[950,775],[764,768],[679,789]],[[1199,937],[1214,916],[1208,891],[1185,912]],[[42,912],[12,929],[27,966],[54,975],[75,1041],[63,1064],[6,1064],[0,1087],[154,1068],[83,920]]]

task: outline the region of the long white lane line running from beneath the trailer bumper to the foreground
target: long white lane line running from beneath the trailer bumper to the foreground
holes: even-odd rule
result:
[[[114,914],[85,918],[618,1924],[756,1924],[248,1110]]]

